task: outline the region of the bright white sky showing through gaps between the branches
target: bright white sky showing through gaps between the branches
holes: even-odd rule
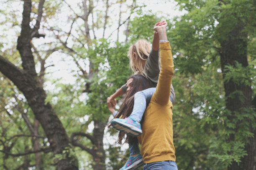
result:
[[[0,0],[2,1],[2,0]],[[76,10],[78,7],[78,4],[81,5],[82,0],[65,0],[69,5],[71,5],[72,9],[77,12],[79,10]],[[174,0],[172,0],[171,2],[167,2],[168,0],[139,0],[139,2],[144,2],[147,6],[144,7],[143,11],[146,13],[149,10],[152,10],[153,13],[156,13],[156,15],[158,17],[162,17],[162,20],[168,18],[173,18],[174,16],[177,15],[182,15],[182,13],[178,10],[177,8],[177,2],[175,2]],[[116,2],[116,0],[109,0],[109,3],[113,3]],[[126,1],[128,5],[131,5],[132,0],[127,0]],[[139,3],[138,2],[138,3]],[[63,2],[64,3],[64,2]],[[34,4],[32,4],[34,5]],[[49,25],[54,26],[56,23],[58,24],[58,26],[61,27],[61,29],[65,30],[65,31],[69,31],[69,25],[67,25],[67,18],[69,17],[69,15],[72,15],[72,11],[69,10],[68,6],[65,5],[65,3],[63,4],[65,7],[63,10],[61,10],[62,12],[59,12],[59,17],[58,18],[54,18],[52,19],[54,24],[49,23]],[[97,4],[98,6],[98,10],[102,10],[102,7],[100,7],[100,4]],[[118,4],[112,4],[111,5],[112,8],[110,8],[109,10],[109,15],[111,16],[110,19],[112,19],[113,21],[113,25],[111,27],[108,27],[106,30],[106,36],[110,35],[111,32],[113,32],[113,30],[116,30],[116,28],[118,28],[118,22],[117,22],[117,18],[119,15],[119,5]],[[10,20],[17,20],[18,24],[21,23],[21,13],[23,11],[23,1],[5,1],[3,2],[2,6],[0,7],[0,10],[10,10],[9,13],[20,13],[20,17],[16,17],[16,18],[10,18]],[[63,13],[64,11],[64,13]],[[130,13],[130,11],[126,11],[126,6],[123,5],[122,11],[124,11],[122,13],[122,19],[124,20],[125,18],[128,17],[128,14]],[[133,15],[134,17],[134,15]],[[132,18],[133,18],[132,17]],[[131,18],[131,19],[132,19]],[[3,22],[5,20],[5,15],[0,13],[0,22]],[[116,21],[116,22],[115,22]],[[80,20],[80,22],[83,22],[82,20]],[[2,35],[3,38],[1,40],[1,42],[5,42],[4,47],[2,48],[2,50],[10,46],[13,45],[13,42],[17,42],[17,34],[19,34],[20,32],[20,26],[17,25],[15,27],[12,27],[10,25],[11,23],[6,23],[5,24],[5,28],[7,30],[4,30],[5,28],[0,28],[0,35]],[[10,29],[11,28],[11,29]],[[120,37],[119,40],[122,41],[125,39],[125,36],[121,34],[121,32],[123,32],[125,30],[125,27],[120,27]],[[45,31],[46,30],[39,30],[39,31]],[[53,41],[52,38],[49,38],[49,35],[47,35],[48,32],[46,32],[46,37],[45,38],[40,38],[40,39],[33,39],[33,43],[36,44],[43,44],[46,42],[51,42]],[[72,34],[76,34],[76,32],[72,32]],[[99,32],[97,32],[98,37],[100,37],[100,35],[102,35],[102,30],[99,30]],[[79,36],[79,35],[78,35]],[[115,31],[111,38],[113,40],[115,40],[117,38],[117,31]],[[70,44],[72,44],[72,42],[69,42]],[[42,47],[41,47],[42,48]],[[74,78],[72,77],[72,74],[70,73],[70,70],[73,70],[72,68],[76,68],[76,66],[74,65],[73,62],[67,62],[67,61],[63,61],[61,60],[61,58],[63,57],[67,57],[64,54],[61,54],[60,52],[54,52],[51,57],[46,60],[49,64],[54,64],[54,67],[49,67],[47,68],[48,72],[52,72],[52,76],[53,77],[62,77],[64,82],[74,82]],[[67,60],[72,60],[71,58],[67,58]],[[86,66],[84,65],[85,69]],[[39,67],[38,67],[39,69]],[[38,71],[37,69],[37,71]],[[88,68],[87,68],[88,69]],[[49,87],[49,89],[51,89],[50,83],[48,82],[47,87]]]

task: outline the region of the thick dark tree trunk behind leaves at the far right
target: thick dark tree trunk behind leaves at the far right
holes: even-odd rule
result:
[[[225,70],[226,65],[232,65],[235,67],[236,62],[241,63],[243,67],[248,66],[247,60],[247,34],[243,32],[243,26],[237,25],[236,28],[230,32],[228,40],[221,42],[220,62],[223,72],[223,77],[227,71]],[[241,108],[252,107],[252,89],[251,86],[246,84],[238,84],[232,79],[224,82],[225,97],[226,97],[226,108],[231,111],[231,115],[228,116],[230,122],[233,122],[234,112],[241,112]],[[237,93],[240,91],[241,93]],[[242,95],[241,95],[242,94]],[[231,97],[233,95],[233,97]],[[243,100],[241,100],[243,98]],[[243,112],[241,112],[243,114]],[[246,120],[242,120],[246,121]],[[235,133],[238,129],[235,129]],[[253,132],[253,131],[252,131]],[[255,130],[254,130],[255,134]],[[235,135],[230,135],[230,141],[235,140]],[[246,145],[246,151],[248,156],[241,158],[239,165],[233,161],[228,170],[255,170],[253,164],[255,164],[255,139],[250,138],[249,143]],[[254,155],[253,155],[254,154]]]

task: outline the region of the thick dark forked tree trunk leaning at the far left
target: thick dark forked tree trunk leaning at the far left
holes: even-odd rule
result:
[[[37,76],[35,62],[31,50],[30,13],[31,0],[24,1],[21,33],[18,37],[17,49],[22,59],[23,70],[0,56],[0,71],[8,77],[28,101],[36,119],[40,122],[54,154],[62,154],[61,160],[56,160],[58,170],[78,170],[77,158],[69,155],[70,142],[66,131],[51,104],[45,103],[46,92]]]

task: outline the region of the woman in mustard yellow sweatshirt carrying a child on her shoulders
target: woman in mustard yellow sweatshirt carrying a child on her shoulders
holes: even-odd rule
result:
[[[138,136],[141,143],[141,155],[143,162],[146,163],[143,170],[177,170],[175,163],[175,148],[173,144],[173,128],[172,128],[172,102],[169,100],[172,76],[174,75],[174,64],[172,60],[172,52],[169,42],[167,41],[166,26],[154,26],[154,30],[158,32],[160,43],[160,63],[161,70],[156,91],[151,97],[151,101],[146,108],[141,121],[142,134]],[[166,41],[166,42],[161,42]],[[137,90],[137,84],[130,82],[130,88]],[[149,89],[142,91],[148,94]],[[137,90],[138,91],[138,90]],[[129,94],[127,94],[129,95]],[[146,96],[150,96],[149,94]],[[133,102],[125,101],[123,103],[127,109],[133,108]],[[123,107],[123,106],[122,106]],[[124,117],[121,110],[119,113]],[[118,141],[124,138],[124,132],[120,132]],[[123,134],[123,135],[122,135]],[[126,142],[132,143],[133,138],[127,136]]]

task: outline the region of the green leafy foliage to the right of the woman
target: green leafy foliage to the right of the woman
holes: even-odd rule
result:
[[[201,146],[204,146],[206,150],[205,156],[201,160],[194,160],[190,167],[194,166],[196,169],[215,167],[214,169],[223,170],[231,165],[233,161],[241,162],[241,158],[247,155],[245,145],[248,143],[248,138],[253,138],[253,133],[251,133],[249,127],[255,127],[255,111],[252,108],[243,107],[232,114],[233,119],[230,121],[231,112],[225,106],[223,82],[232,79],[238,84],[252,85],[251,87],[255,91],[253,86],[255,84],[255,55],[253,55],[253,52],[251,53],[251,47],[255,42],[253,36],[246,40],[250,44],[248,49],[244,49],[247,50],[248,54],[248,67],[236,62],[235,66],[226,66],[226,70],[220,68],[221,42],[228,40],[230,31],[238,23],[243,23],[245,25],[244,32],[252,35],[255,29],[253,31],[250,25],[255,22],[255,17],[253,17],[251,11],[255,8],[253,7],[253,1],[247,0],[177,0],[177,2],[180,9],[187,10],[188,13],[174,20],[173,30],[169,35],[174,50],[173,54],[175,54],[174,65],[176,67],[173,85],[177,97],[176,105],[178,106],[174,106],[174,113],[177,109],[176,112],[179,115],[186,115],[187,113],[195,115],[200,119],[196,125],[200,129],[191,129],[196,132],[200,130],[207,132],[208,138],[205,136],[206,134],[200,134],[201,139],[204,139],[204,145]],[[249,18],[254,19],[249,22]],[[254,59],[251,60],[250,56],[253,56]],[[223,72],[226,73],[225,79],[222,78]],[[176,76],[187,81],[179,83],[181,80],[177,80]],[[179,86],[176,87],[176,84]],[[187,85],[181,86],[182,84]],[[235,93],[240,94],[241,91]],[[232,95],[235,94],[231,94],[229,97],[232,97]],[[243,95],[240,96],[243,100]],[[188,105],[189,103],[190,105]],[[188,124],[188,127],[193,127],[195,117],[190,117],[190,121],[185,121],[183,118],[175,122],[174,115],[174,124],[178,123],[180,125],[178,126],[179,130],[183,129],[182,125]],[[188,130],[184,128],[183,131],[186,133]],[[189,134],[193,133],[190,132]],[[235,135],[235,141],[228,140],[230,135]],[[190,140],[184,138],[183,143],[189,145],[189,143],[196,141],[195,138],[196,135]],[[209,143],[206,141],[209,141]],[[179,150],[179,148],[178,145],[177,149]],[[201,149],[197,148],[196,153]],[[179,157],[179,152],[182,151],[177,152],[179,169],[189,169],[187,160]],[[191,157],[194,158],[192,155]],[[206,163],[204,164],[204,162]]]

